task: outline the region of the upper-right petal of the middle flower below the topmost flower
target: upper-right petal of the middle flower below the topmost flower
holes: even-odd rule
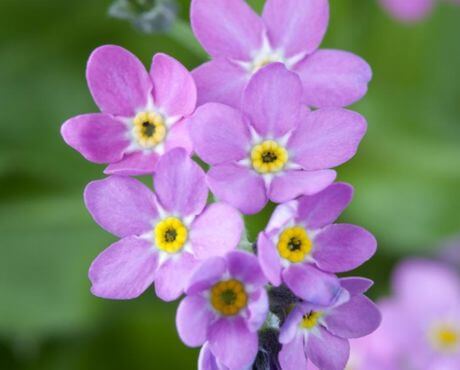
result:
[[[310,112],[289,139],[292,161],[305,170],[336,167],[351,159],[366,133],[367,124],[358,113],[327,108]]]

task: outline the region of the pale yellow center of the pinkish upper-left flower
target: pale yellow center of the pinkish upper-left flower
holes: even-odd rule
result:
[[[134,136],[143,148],[153,148],[166,136],[165,121],[158,113],[140,112],[134,118],[133,123]]]

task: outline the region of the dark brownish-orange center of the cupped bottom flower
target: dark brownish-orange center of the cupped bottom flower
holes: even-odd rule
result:
[[[248,303],[244,285],[235,279],[220,281],[211,288],[212,306],[225,316],[234,316]]]

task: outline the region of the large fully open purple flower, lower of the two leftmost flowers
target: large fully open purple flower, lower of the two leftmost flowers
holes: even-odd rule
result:
[[[224,255],[239,243],[240,214],[223,203],[206,207],[205,174],[184,149],[159,160],[154,180],[156,193],[119,176],[86,187],[85,203],[94,220],[121,238],[91,265],[96,296],[136,298],[155,281],[156,294],[174,300],[201,260]]]

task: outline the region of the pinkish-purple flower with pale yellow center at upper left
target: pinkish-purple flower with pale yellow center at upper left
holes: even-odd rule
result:
[[[87,160],[109,163],[106,174],[150,174],[168,150],[192,151],[184,118],[196,86],[177,60],[156,54],[149,74],[129,51],[105,45],[91,54],[86,78],[101,113],[73,117],[61,133]]]

